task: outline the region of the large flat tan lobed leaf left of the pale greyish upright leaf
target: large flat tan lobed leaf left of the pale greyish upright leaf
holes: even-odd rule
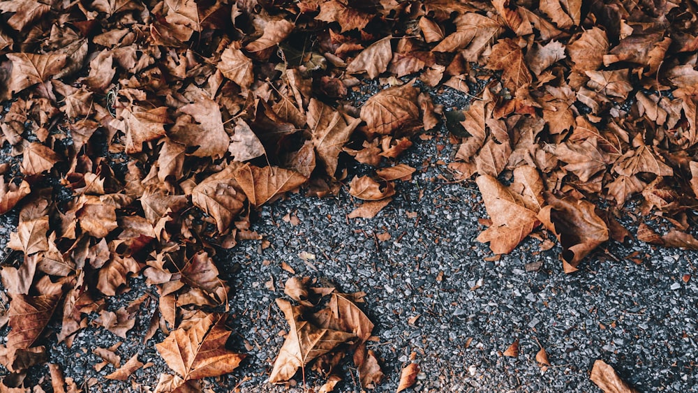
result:
[[[230,137],[223,128],[218,103],[200,94],[193,103],[179,108],[181,114],[172,126],[170,139],[188,147],[198,147],[192,155],[221,158],[228,151]],[[186,116],[188,115],[188,116]]]

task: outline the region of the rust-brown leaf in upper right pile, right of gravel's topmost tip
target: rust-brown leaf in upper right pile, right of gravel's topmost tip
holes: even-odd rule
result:
[[[528,66],[526,66],[526,61],[523,59],[521,47],[511,38],[498,40],[497,44],[492,47],[487,68],[502,70],[502,83],[510,91],[517,91],[519,87],[530,84],[533,79],[528,71]]]

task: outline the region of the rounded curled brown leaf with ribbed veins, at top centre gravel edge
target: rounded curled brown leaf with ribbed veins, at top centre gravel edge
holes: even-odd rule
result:
[[[417,89],[410,84],[391,87],[369,98],[361,107],[361,119],[369,133],[389,135],[419,121]]]

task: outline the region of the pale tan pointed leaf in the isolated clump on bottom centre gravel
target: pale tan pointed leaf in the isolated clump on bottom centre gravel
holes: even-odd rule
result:
[[[325,355],[337,346],[352,341],[355,334],[339,330],[320,328],[302,320],[302,311],[284,299],[276,299],[276,305],[290,326],[279,355],[274,361],[270,383],[283,383],[292,378],[299,368],[306,366],[316,357]]]

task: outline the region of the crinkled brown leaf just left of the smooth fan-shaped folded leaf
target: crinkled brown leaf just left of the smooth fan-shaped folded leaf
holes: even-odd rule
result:
[[[191,202],[216,220],[218,232],[228,232],[232,218],[243,207],[245,194],[233,177],[236,165],[228,165],[204,179],[191,191]]]

